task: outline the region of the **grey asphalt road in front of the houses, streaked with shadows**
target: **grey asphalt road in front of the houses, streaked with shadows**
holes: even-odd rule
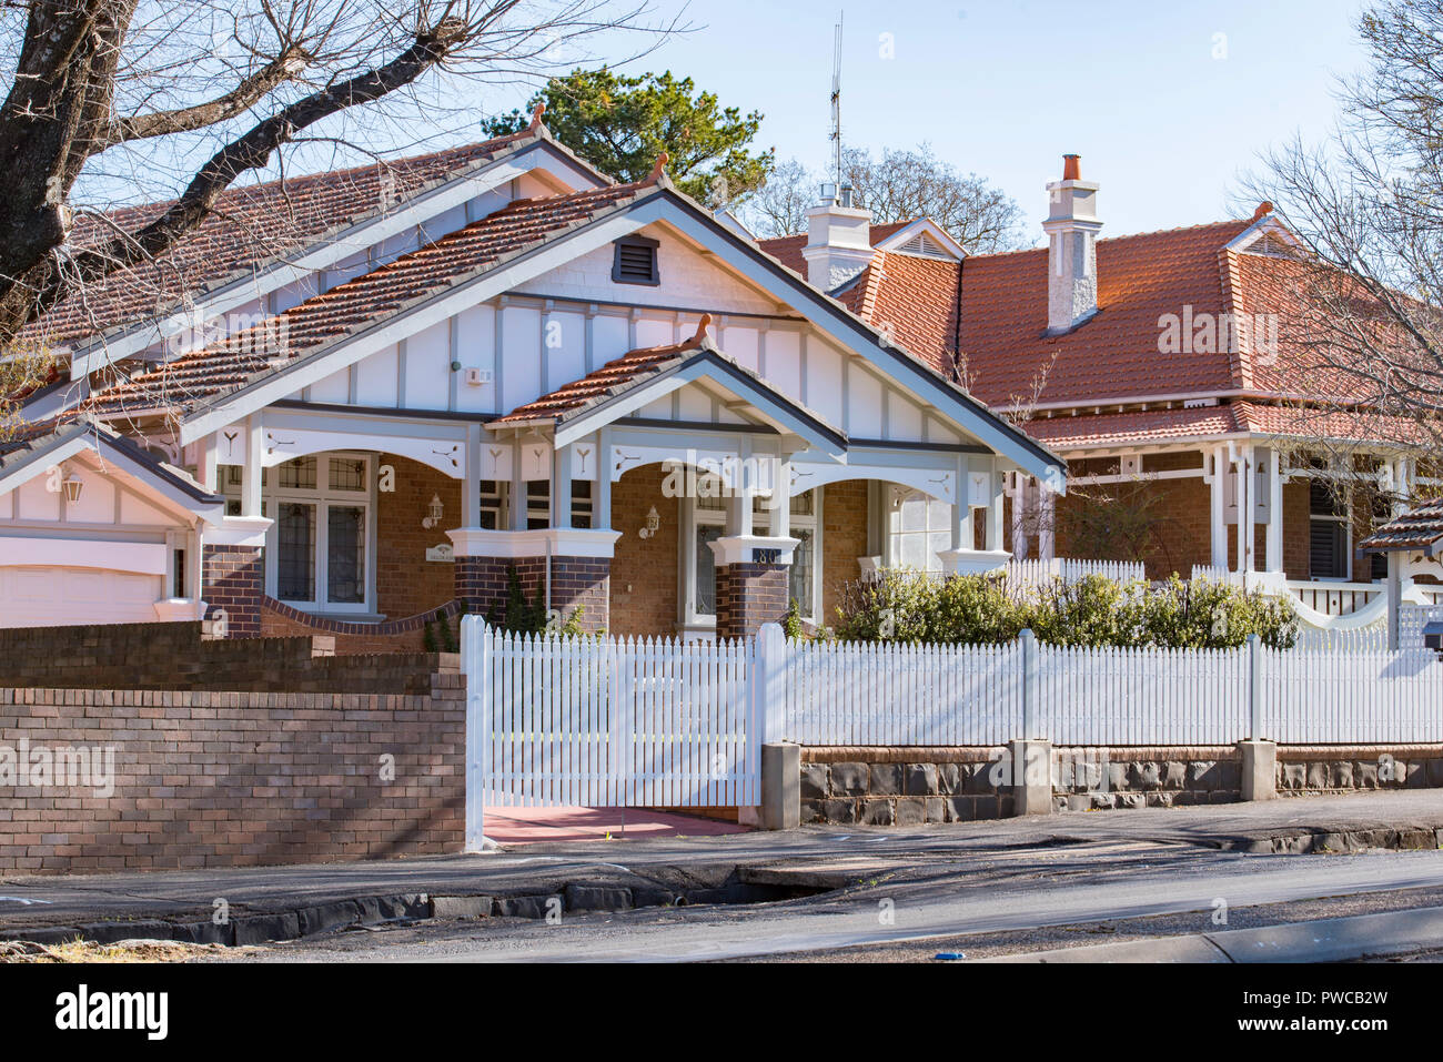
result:
[[[1420,906],[1437,905],[1443,853],[1258,856],[1183,843],[1081,841],[973,857],[919,856],[874,880],[810,899],[564,915],[556,923],[433,922],[299,941],[250,961],[714,961],[928,939],[961,947],[962,935],[1165,915],[1173,918],[1173,932],[1206,932],[1216,928],[1219,910],[1400,890],[1417,890],[1408,899]]]

